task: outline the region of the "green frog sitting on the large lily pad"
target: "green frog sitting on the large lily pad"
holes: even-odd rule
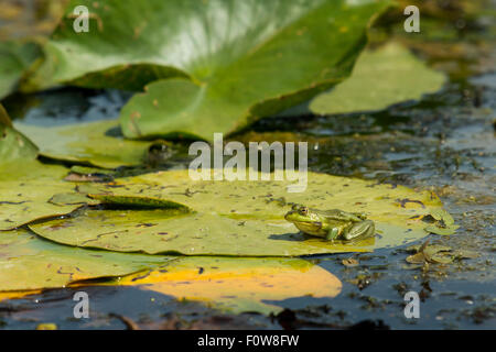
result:
[[[302,232],[327,241],[355,241],[375,234],[374,221],[367,220],[367,216],[362,212],[316,210],[294,205],[284,219],[294,223]]]

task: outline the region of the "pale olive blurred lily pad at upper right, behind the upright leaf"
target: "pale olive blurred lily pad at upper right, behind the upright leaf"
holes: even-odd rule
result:
[[[310,110],[320,114],[382,110],[393,103],[419,100],[424,94],[441,89],[444,81],[442,73],[391,43],[364,52],[352,77],[315,97]]]

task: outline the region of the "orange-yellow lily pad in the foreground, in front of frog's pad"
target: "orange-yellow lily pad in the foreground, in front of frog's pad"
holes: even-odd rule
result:
[[[271,300],[335,297],[342,288],[336,276],[304,260],[201,256],[180,258],[161,271],[137,273],[112,284],[138,285],[231,312],[267,315],[282,310]]]

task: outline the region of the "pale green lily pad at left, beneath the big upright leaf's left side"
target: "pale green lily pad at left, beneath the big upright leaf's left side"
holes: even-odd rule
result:
[[[117,121],[98,121],[58,128],[15,123],[54,160],[89,164],[104,168],[142,164],[151,142],[129,141],[120,135]]]

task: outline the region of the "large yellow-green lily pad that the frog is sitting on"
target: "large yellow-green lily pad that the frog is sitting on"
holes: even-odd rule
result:
[[[416,219],[442,207],[429,191],[324,174],[309,173],[304,193],[288,194],[288,185],[274,180],[194,182],[187,170],[147,174],[97,186],[105,195],[100,200],[119,204],[122,196],[133,195],[172,199],[196,213],[169,217],[164,210],[89,210],[31,229],[56,242],[112,251],[296,256],[371,251],[419,240],[428,232],[425,223]],[[366,212],[376,222],[378,234],[355,243],[299,234],[283,220],[292,204]]]

